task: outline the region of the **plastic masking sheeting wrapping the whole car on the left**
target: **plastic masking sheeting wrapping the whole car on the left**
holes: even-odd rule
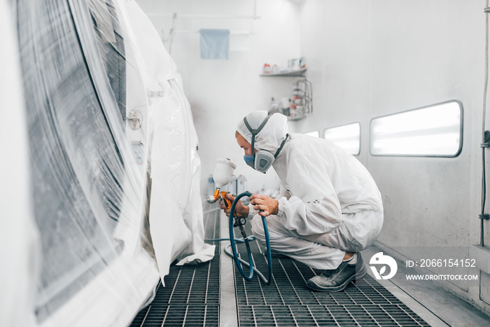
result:
[[[23,287],[36,286],[15,296],[2,292],[1,303],[15,298],[10,307],[24,314],[13,312],[7,321],[28,325],[35,314],[30,321],[43,326],[125,325],[158,282],[155,256],[163,277],[175,258],[205,261],[214,253],[203,241],[189,104],[172,60],[134,1],[10,6],[24,92],[24,103],[13,99],[12,110],[25,113],[30,157],[16,169],[27,164],[31,186],[25,202],[15,203],[25,206],[25,218],[12,230],[20,239],[0,242],[15,251],[6,260],[2,253],[4,267],[18,270]],[[0,41],[11,50],[8,31],[2,28]],[[15,81],[15,72],[9,74],[2,83]],[[7,132],[14,135],[12,128]],[[38,246],[31,247],[36,232]],[[3,322],[3,306],[1,314]]]

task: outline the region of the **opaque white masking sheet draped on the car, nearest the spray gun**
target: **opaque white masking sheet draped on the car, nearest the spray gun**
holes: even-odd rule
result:
[[[197,134],[176,66],[136,2],[128,1],[125,5],[150,95],[153,134],[150,228],[163,279],[173,260],[179,260],[178,265],[211,260],[214,246],[204,243]]]

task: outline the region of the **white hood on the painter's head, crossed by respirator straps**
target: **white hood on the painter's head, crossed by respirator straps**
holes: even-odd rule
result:
[[[267,117],[267,111],[254,111],[246,116],[246,120],[248,125],[255,130],[264,121],[265,117]],[[275,153],[288,133],[287,122],[288,118],[286,118],[286,116],[281,113],[274,113],[262,130],[255,136],[255,149],[267,150]],[[246,127],[243,119],[238,123],[237,132],[239,132],[248,143],[252,143],[252,134]]]

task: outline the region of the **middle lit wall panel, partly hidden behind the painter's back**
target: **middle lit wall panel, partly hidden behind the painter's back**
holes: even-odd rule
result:
[[[332,141],[352,155],[358,155],[360,152],[360,124],[352,123],[325,128],[323,130],[323,139]]]

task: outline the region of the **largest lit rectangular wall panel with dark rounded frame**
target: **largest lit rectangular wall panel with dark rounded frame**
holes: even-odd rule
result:
[[[440,104],[373,118],[371,155],[456,157],[463,146],[463,106]]]

